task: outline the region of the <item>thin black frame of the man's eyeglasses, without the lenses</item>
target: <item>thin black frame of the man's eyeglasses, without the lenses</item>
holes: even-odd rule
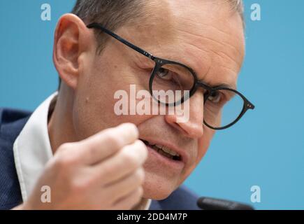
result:
[[[205,122],[205,119],[203,120],[203,123],[211,128],[212,130],[224,130],[227,129],[229,127],[231,127],[232,125],[235,125],[238,120],[240,120],[240,118],[242,118],[244,116],[244,114],[249,110],[253,110],[255,108],[254,104],[252,104],[251,102],[249,102],[249,100],[240,92],[238,92],[237,90],[233,90],[229,87],[222,87],[222,86],[217,86],[217,87],[211,87],[210,85],[207,85],[205,83],[203,83],[201,80],[198,80],[197,76],[196,76],[196,72],[191,69],[189,66],[186,66],[184,64],[181,64],[180,62],[174,62],[168,59],[162,59],[159,57],[154,57],[154,55],[152,55],[150,52],[147,52],[145,50],[143,50],[142,48],[139,48],[136,45],[133,45],[133,43],[130,43],[129,41],[126,41],[124,38],[118,36],[117,34],[113,33],[112,31],[106,29],[105,27],[103,27],[103,25],[97,23],[97,22],[93,22],[89,25],[87,25],[88,29],[100,29],[101,31],[103,31],[104,33],[112,36],[113,38],[117,39],[117,41],[120,41],[121,43],[123,43],[124,45],[127,45],[129,48],[136,50],[137,52],[139,52],[140,54],[144,55],[145,57],[148,57],[150,59],[152,59],[155,62],[155,66],[154,69],[151,73],[150,76],[150,80],[149,80],[149,91],[151,96],[157,100],[157,102],[159,102],[159,104],[164,104],[163,102],[160,102],[159,99],[156,99],[154,97],[154,94],[152,92],[152,83],[154,80],[154,76],[156,75],[156,71],[158,71],[158,69],[161,68],[161,66],[164,66],[165,64],[177,64],[179,66],[184,67],[185,69],[188,69],[190,71],[190,73],[192,74],[192,76],[194,76],[194,85],[191,87],[191,90],[189,90],[189,97],[187,97],[187,99],[189,99],[191,96],[194,95],[194,93],[196,92],[196,90],[198,89],[198,87],[203,87],[204,90],[207,90],[204,94],[204,104],[207,101],[208,97],[210,97],[210,95],[212,95],[212,93],[217,92],[219,90],[228,90],[228,91],[232,91],[235,94],[238,94],[244,101],[243,104],[243,110],[240,112],[240,115],[236,118],[236,120],[234,120],[232,123],[230,123],[229,125],[225,125],[224,127],[212,127],[210,125],[208,125],[208,123]],[[178,102],[174,102],[173,104],[165,104],[166,106],[176,106],[178,104],[182,104],[184,102],[184,97],[182,97],[182,99],[180,99]]]

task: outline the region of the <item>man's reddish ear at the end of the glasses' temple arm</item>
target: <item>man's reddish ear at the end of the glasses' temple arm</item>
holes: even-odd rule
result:
[[[57,23],[53,61],[61,80],[72,89],[78,84],[79,60],[82,53],[89,50],[92,33],[78,16],[65,14]]]

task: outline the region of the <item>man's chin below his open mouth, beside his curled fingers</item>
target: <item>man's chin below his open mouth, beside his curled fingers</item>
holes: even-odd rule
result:
[[[155,174],[145,169],[143,197],[152,200],[164,200],[179,187],[179,181],[168,178],[164,174]]]

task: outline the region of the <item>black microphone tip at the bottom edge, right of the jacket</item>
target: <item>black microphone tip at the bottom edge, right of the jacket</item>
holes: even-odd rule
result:
[[[212,197],[200,197],[197,200],[197,205],[203,210],[254,210],[248,204],[219,200]]]

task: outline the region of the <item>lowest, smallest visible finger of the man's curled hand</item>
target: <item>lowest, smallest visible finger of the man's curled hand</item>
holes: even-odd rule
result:
[[[113,209],[126,210],[132,209],[143,199],[143,188],[139,187],[126,197],[114,202]]]

